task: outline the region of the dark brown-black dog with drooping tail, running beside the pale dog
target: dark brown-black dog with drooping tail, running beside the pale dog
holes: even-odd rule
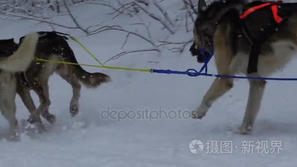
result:
[[[72,49],[64,39],[64,36],[58,35],[55,32],[38,32],[38,34],[40,38],[36,46],[35,57],[46,60],[78,63]],[[22,45],[24,38],[20,38],[19,44],[15,43],[14,39],[6,41],[5,48],[7,50],[15,50],[20,44]],[[89,73],[80,65],[64,63],[34,61],[29,65],[26,71],[16,73],[17,93],[30,112],[28,122],[36,124],[40,131],[46,131],[40,115],[51,124],[53,124],[56,119],[55,115],[51,114],[48,110],[51,104],[49,99],[48,79],[54,72],[72,86],[73,95],[70,101],[70,113],[73,117],[79,112],[80,82],[87,88],[95,88],[102,83],[111,81],[106,74],[98,72]],[[39,97],[40,105],[37,108],[30,94],[31,89]]]

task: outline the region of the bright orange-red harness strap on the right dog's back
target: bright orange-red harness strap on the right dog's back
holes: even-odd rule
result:
[[[245,17],[247,17],[249,14],[253,13],[254,11],[261,9],[265,6],[269,6],[271,5],[271,10],[274,16],[274,19],[277,23],[280,23],[281,21],[283,21],[283,18],[281,18],[280,16],[278,16],[277,12],[278,12],[278,7],[276,5],[276,3],[282,3],[281,0],[278,0],[276,2],[267,2],[267,3],[263,3],[261,5],[258,6],[254,6],[251,7],[250,9],[246,10],[243,14],[239,15],[240,19],[244,19]]]

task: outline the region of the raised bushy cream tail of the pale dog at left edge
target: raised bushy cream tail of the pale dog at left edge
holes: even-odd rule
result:
[[[38,39],[37,33],[28,34],[13,55],[0,59],[0,69],[11,72],[25,71],[34,59]]]

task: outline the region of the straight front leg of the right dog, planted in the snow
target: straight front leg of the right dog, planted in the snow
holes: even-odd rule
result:
[[[257,74],[248,75],[252,77],[259,77]],[[261,105],[266,81],[264,80],[249,80],[250,90],[249,99],[246,106],[245,116],[242,125],[239,129],[240,134],[250,134],[253,130],[255,118]]]

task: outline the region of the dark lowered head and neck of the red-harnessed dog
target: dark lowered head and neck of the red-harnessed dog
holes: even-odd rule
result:
[[[193,28],[194,42],[190,48],[192,56],[204,63],[213,54],[213,37],[217,25],[231,10],[242,7],[241,0],[215,1],[207,6],[205,0],[198,0],[198,15]]]

